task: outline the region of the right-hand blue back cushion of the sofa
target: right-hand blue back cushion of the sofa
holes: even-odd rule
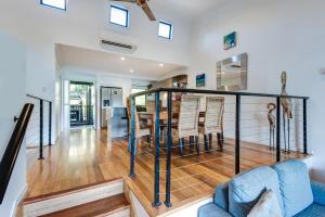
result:
[[[295,216],[313,203],[307,165],[290,159],[274,165],[277,171],[286,217]]]

